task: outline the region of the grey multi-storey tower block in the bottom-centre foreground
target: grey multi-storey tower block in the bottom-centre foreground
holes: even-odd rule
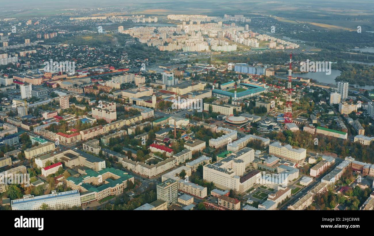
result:
[[[167,202],[168,206],[178,201],[178,182],[169,178],[157,183],[157,199]]]

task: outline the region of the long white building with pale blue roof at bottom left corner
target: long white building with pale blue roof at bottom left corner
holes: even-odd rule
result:
[[[80,195],[78,190],[56,193],[55,190],[51,194],[36,196],[24,195],[23,199],[12,200],[12,210],[40,210],[43,204],[48,209],[67,209],[71,207],[80,207]]]

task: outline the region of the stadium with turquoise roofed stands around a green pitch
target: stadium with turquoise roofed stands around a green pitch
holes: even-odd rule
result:
[[[246,97],[253,97],[257,94],[266,91],[265,88],[253,84],[240,83],[236,88],[236,99],[245,99]],[[235,88],[228,88],[226,90],[213,89],[212,95],[216,97],[231,97],[235,98]]]

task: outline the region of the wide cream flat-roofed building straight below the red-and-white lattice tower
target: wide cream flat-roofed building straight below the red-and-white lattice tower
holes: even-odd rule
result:
[[[278,156],[296,163],[301,163],[306,158],[306,149],[292,148],[291,145],[282,145],[279,142],[274,142],[269,145],[269,155]]]

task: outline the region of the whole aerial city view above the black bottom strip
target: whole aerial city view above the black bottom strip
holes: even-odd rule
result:
[[[374,3],[337,2],[4,1],[0,209],[373,210]]]

